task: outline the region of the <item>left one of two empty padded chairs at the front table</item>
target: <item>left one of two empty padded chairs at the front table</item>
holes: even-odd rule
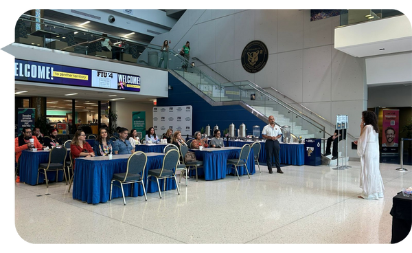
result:
[[[111,200],[112,190],[113,190],[113,181],[117,181],[122,189],[122,196],[123,196],[123,203],[126,205],[126,198],[124,197],[124,184],[132,184],[132,192],[133,192],[133,184],[139,183],[143,186],[144,192],[144,199],[148,201],[148,197],[146,196],[146,189],[144,188],[144,170],[146,169],[146,164],[148,162],[148,157],[146,153],[141,151],[136,151],[133,155],[130,155],[127,161],[127,168],[126,172],[124,173],[115,173],[113,174],[113,178],[111,179],[110,185],[110,196],[108,200]],[[116,185],[117,186],[117,185]]]

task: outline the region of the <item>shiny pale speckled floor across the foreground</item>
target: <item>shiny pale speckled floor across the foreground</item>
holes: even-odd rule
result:
[[[87,204],[65,183],[13,180],[13,228],[29,245],[390,245],[392,198],[412,186],[412,166],[380,164],[385,197],[359,199],[360,163],[266,166],[248,179],[189,179],[188,186]]]

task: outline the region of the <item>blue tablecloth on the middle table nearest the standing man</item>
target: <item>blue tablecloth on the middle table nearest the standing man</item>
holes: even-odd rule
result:
[[[227,159],[238,158],[241,148],[226,147],[226,148],[203,148],[202,151],[198,149],[191,149],[196,154],[196,159],[203,161],[203,167],[198,167],[198,175],[204,175],[205,180],[216,180],[225,178],[227,174],[235,175],[235,168],[233,165],[227,165]],[[255,159],[253,159],[253,151],[249,153],[247,159],[247,168],[249,174],[255,174]],[[192,170],[190,175],[196,173]],[[239,175],[247,175],[244,166],[238,167]]]

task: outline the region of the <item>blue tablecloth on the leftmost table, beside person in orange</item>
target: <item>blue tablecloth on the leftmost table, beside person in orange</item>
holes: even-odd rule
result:
[[[19,175],[20,182],[30,184],[32,186],[36,185],[38,164],[49,162],[49,151],[22,151],[19,157]],[[67,153],[69,155],[69,152]],[[43,184],[45,181],[45,176],[43,173],[38,175],[38,184]],[[50,181],[56,181],[56,171],[49,171],[47,173],[47,179]],[[63,180],[63,172],[59,171],[58,181]]]

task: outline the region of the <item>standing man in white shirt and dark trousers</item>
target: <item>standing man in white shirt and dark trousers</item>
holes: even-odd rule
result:
[[[275,155],[274,162],[277,168],[276,172],[282,174],[283,171],[280,169],[279,163],[280,144],[277,140],[282,137],[282,130],[279,126],[275,125],[275,117],[273,117],[273,115],[269,116],[268,122],[269,124],[264,126],[262,131],[262,137],[266,139],[266,142],[264,143],[264,148],[266,149],[266,164],[268,166],[269,173],[273,173],[272,157]]]

